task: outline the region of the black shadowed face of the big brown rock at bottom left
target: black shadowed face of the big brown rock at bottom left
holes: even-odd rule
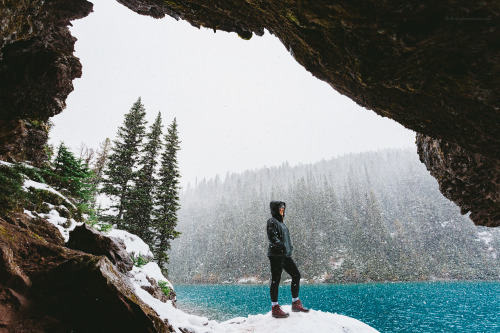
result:
[[[49,316],[64,318],[76,331],[170,331],[105,256],[74,256],[47,272],[34,290],[43,290],[36,298]]]

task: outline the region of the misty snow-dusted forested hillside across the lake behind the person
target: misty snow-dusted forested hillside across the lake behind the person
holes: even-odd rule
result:
[[[269,278],[269,201],[302,276],[326,282],[498,279],[500,230],[474,226],[410,150],[347,155],[203,180],[181,195],[173,282]],[[284,273],[284,278],[286,274]]]

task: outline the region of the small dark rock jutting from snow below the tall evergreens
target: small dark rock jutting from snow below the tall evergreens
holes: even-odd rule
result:
[[[77,226],[70,232],[66,246],[95,256],[106,256],[122,273],[130,271],[134,266],[122,240],[106,237],[86,224]]]

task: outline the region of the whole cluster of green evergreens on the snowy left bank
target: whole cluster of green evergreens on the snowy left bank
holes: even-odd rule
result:
[[[145,116],[139,98],[125,114],[113,143],[106,139],[97,151],[82,145],[80,158],[61,143],[52,169],[60,188],[86,205],[91,220],[107,223],[96,222],[101,229],[113,224],[141,237],[167,274],[167,251],[180,234],[175,230],[180,141],[175,118],[162,140],[161,114],[147,133]],[[52,147],[47,150],[52,154]],[[101,194],[106,200],[98,200]]]

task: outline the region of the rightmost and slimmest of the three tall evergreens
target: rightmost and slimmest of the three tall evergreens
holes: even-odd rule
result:
[[[167,251],[170,241],[179,237],[175,230],[177,226],[177,211],[179,210],[179,170],[177,166],[177,151],[180,149],[177,133],[177,121],[174,118],[165,135],[165,150],[161,156],[159,186],[156,195],[157,209],[154,212],[156,240],[153,253],[158,266],[167,274]]]

